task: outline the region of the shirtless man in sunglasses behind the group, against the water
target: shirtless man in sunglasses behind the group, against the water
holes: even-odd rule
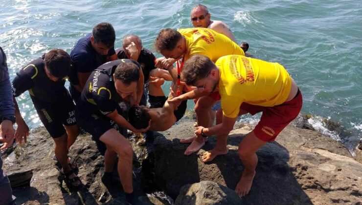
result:
[[[208,8],[203,4],[198,4],[191,9],[191,22],[195,27],[212,29],[218,33],[224,34],[231,39],[231,41],[236,42],[234,34],[226,23],[223,21],[211,21],[211,14],[209,13]],[[240,47],[244,52],[247,52],[249,44],[247,42],[242,42]]]

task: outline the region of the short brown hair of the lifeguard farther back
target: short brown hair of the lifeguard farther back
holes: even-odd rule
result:
[[[155,40],[155,48],[157,52],[168,50],[172,51],[177,42],[179,42],[182,38],[182,35],[177,30],[171,28],[162,29]]]

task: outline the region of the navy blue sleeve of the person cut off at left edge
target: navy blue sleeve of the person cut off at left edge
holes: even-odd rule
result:
[[[6,64],[6,56],[0,47],[0,118],[14,116],[14,102]]]

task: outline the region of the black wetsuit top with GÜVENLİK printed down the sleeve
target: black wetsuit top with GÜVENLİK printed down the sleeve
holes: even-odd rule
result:
[[[122,62],[134,62],[129,59],[120,59],[107,62],[95,69],[89,77],[77,108],[82,112],[91,112],[92,114],[108,115],[115,109],[119,110],[119,102],[122,98],[114,87],[113,73],[115,68]]]

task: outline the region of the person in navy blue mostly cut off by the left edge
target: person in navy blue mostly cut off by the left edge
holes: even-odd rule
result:
[[[0,142],[4,143],[0,149],[5,149],[13,144],[15,123],[15,109],[9,73],[7,71],[6,56],[0,47]],[[15,204],[12,196],[9,179],[2,171],[2,160],[0,158],[0,205]]]

